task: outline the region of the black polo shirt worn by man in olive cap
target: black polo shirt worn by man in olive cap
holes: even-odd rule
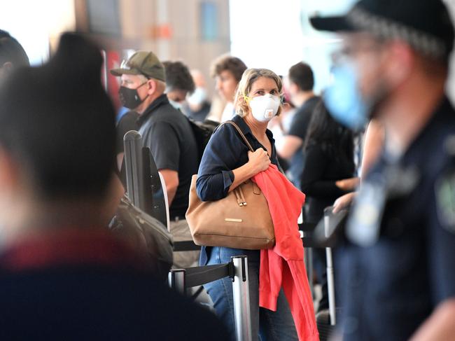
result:
[[[170,217],[183,218],[188,209],[191,176],[197,173],[197,144],[188,118],[161,95],[138,120],[142,143],[150,148],[156,167],[179,172],[179,187],[169,207]]]

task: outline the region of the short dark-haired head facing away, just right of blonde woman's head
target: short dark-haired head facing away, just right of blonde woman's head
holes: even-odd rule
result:
[[[290,101],[295,106],[300,106],[302,103],[299,103],[297,97],[302,94],[313,93],[313,70],[311,70],[311,67],[308,64],[299,62],[290,67],[288,78]]]

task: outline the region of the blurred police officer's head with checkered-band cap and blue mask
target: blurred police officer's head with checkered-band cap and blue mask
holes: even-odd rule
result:
[[[454,27],[441,0],[360,0],[342,17],[311,18],[311,24],[344,38],[333,70],[335,84],[338,78],[344,90],[326,92],[334,113],[365,108],[376,113],[416,77],[429,90],[443,88]],[[357,90],[364,103],[346,104],[343,109],[341,104],[355,97]]]

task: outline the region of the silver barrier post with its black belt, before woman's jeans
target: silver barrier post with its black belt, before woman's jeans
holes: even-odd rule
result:
[[[232,279],[237,341],[251,341],[251,308],[246,256],[233,256],[230,262],[225,264],[171,270],[169,286],[185,294],[186,288],[201,286],[225,277]]]

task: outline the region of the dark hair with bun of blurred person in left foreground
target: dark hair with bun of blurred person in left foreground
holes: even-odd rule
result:
[[[0,85],[0,146],[44,200],[106,195],[115,165],[115,110],[101,84],[99,48],[64,34],[42,67]]]

